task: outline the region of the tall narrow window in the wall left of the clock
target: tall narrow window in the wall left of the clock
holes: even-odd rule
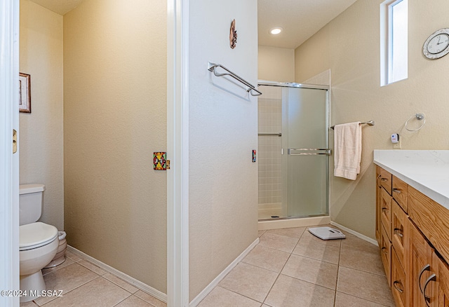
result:
[[[380,86],[408,77],[408,0],[380,4]]]

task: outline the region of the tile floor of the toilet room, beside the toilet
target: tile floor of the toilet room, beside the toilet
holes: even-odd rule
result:
[[[71,252],[55,268],[44,268],[48,290],[63,290],[62,297],[39,297],[20,307],[166,307],[167,304],[116,278]]]

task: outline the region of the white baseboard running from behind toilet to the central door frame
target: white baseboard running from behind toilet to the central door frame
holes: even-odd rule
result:
[[[160,301],[163,301],[164,303],[167,302],[167,294],[160,292],[159,290],[154,289],[153,287],[149,287],[149,285],[146,285],[145,283],[141,282],[140,280],[132,278],[130,275],[126,275],[125,273],[113,268],[112,266],[108,266],[107,264],[102,263],[102,261],[99,261],[99,260],[89,256],[88,254],[84,254],[80,250],[76,250],[76,248],[74,248],[70,245],[67,245],[67,250],[69,250],[69,252],[76,254],[76,256],[79,256],[80,258],[95,264],[95,266],[102,268],[103,270],[107,271],[108,273],[115,275],[117,278],[120,278],[121,280],[128,282],[128,284],[133,285],[134,287],[142,290],[143,292],[146,292],[147,294],[156,297],[156,299],[159,299]]]

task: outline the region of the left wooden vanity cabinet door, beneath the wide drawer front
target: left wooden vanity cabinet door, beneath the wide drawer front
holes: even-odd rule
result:
[[[411,222],[410,222],[411,223]],[[429,282],[424,293],[424,285],[426,280],[434,274],[435,270],[432,266],[432,252],[433,249],[424,239],[424,236],[417,230],[417,228],[410,224],[410,240],[409,240],[409,293],[410,306],[413,307],[427,307],[437,306],[433,295],[434,282]],[[424,295],[427,299],[424,299]]]

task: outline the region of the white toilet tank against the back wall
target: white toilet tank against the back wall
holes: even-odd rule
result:
[[[34,223],[42,214],[43,184],[19,186],[19,225]]]

